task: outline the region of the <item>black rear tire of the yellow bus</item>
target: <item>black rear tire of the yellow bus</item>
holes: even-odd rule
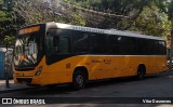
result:
[[[146,73],[146,71],[145,71],[145,67],[139,66],[139,67],[138,67],[138,69],[137,69],[137,76],[136,76],[136,79],[137,79],[137,80],[142,80],[142,79],[144,79],[144,78],[145,78],[145,73]]]

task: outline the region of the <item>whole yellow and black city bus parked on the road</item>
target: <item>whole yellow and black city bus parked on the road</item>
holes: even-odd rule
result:
[[[16,36],[14,81],[72,83],[161,72],[167,69],[164,39],[115,29],[61,23],[24,27]]]

